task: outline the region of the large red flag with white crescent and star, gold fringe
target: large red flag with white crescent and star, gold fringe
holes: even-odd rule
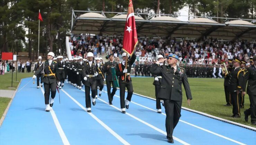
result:
[[[135,50],[137,43],[138,39],[135,25],[134,10],[132,0],[129,0],[128,13],[125,21],[123,50],[131,56]]]

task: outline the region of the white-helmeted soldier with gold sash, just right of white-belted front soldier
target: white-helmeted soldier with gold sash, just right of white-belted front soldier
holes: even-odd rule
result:
[[[104,65],[103,63],[100,64],[100,58],[95,58],[95,60],[96,60],[95,69],[99,74],[98,76],[95,76],[95,79],[96,79],[96,91],[95,91],[96,97],[95,98],[98,98],[97,88],[99,87],[99,96],[101,96],[101,91],[104,87],[105,74],[104,74]]]

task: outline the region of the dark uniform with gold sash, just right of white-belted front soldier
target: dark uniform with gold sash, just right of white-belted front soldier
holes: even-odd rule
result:
[[[100,91],[102,91],[103,87],[104,87],[104,64],[100,63],[99,64],[100,67],[98,66],[98,64],[95,64],[95,68],[96,71],[98,72],[98,76],[95,76],[96,79],[96,90],[95,90],[95,94],[98,95],[98,86],[100,87]]]

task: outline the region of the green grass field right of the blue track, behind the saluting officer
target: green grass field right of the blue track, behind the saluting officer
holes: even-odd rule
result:
[[[185,90],[183,89],[182,106],[198,110],[213,116],[231,120],[237,123],[253,126],[244,120],[244,111],[249,108],[249,96],[245,95],[245,108],[241,108],[241,118],[232,118],[232,106],[226,104],[223,82],[224,79],[188,78],[193,99],[190,106],[187,104]],[[134,93],[155,98],[154,78],[132,78]],[[255,126],[253,126],[255,127]]]

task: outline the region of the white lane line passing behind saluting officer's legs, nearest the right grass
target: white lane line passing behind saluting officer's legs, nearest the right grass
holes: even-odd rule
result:
[[[107,91],[104,91],[104,92],[107,92]],[[120,97],[117,96],[117,95],[115,95],[115,96],[118,97],[118,98],[120,98]],[[141,107],[144,107],[144,108],[147,108],[147,109],[152,110],[152,111],[154,111],[154,112],[157,112],[156,110],[154,110],[154,109],[152,109],[152,108],[149,108],[149,107],[146,107],[146,106],[144,106],[144,105],[138,104],[138,103],[136,103],[136,102],[134,102],[134,101],[131,101],[131,103],[136,104],[136,105],[141,106]],[[162,114],[166,116],[165,113],[162,113]],[[225,139],[227,139],[227,140],[229,140],[229,141],[231,141],[231,142],[234,142],[234,143],[237,143],[237,144],[240,144],[240,145],[245,145],[244,143],[241,143],[241,142],[238,142],[238,141],[236,141],[236,140],[234,140],[234,139],[228,138],[228,137],[226,137],[226,136],[223,136],[223,135],[214,133],[214,132],[212,132],[212,131],[209,131],[208,129],[205,129],[205,128],[196,126],[196,125],[194,125],[194,124],[185,122],[184,120],[181,120],[181,119],[180,119],[179,121],[181,121],[181,122],[183,122],[183,123],[185,123],[185,124],[191,125],[191,126],[193,126],[193,127],[199,128],[199,129],[201,129],[201,130],[203,130],[203,131],[205,131],[205,132],[208,132],[208,133],[217,135],[217,136],[219,136],[219,137],[225,138]]]

